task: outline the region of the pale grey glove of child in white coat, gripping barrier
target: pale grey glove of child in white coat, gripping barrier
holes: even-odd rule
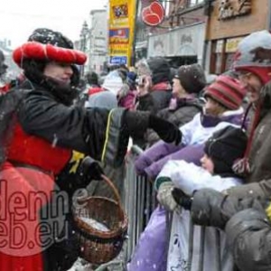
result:
[[[160,182],[157,193],[157,201],[164,206],[165,210],[174,211],[178,207],[177,202],[173,198],[174,184],[170,178],[160,177],[156,180]]]

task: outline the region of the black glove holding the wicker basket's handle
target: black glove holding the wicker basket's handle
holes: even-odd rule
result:
[[[101,175],[104,174],[98,162],[87,156],[79,165],[79,178],[84,180],[84,183],[89,184],[92,180],[102,180]]]

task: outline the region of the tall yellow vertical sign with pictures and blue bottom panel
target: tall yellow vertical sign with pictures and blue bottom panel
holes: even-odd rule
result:
[[[110,63],[130,65],[135,29],[135,0],[109,1]]]

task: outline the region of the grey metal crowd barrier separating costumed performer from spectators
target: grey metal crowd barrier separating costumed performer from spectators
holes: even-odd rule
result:
[[[131,147],[130,154],[127,155],[126,158],[126,179],[124,180],[124,190],[123,193],[123,204],[126,210],[126,215],[128,217],[128,232],[127,232],[127,240],[125,242],[123,252],[121,257],[118,257],[119,260],[114,259],[112,262],[107,263],[106,265],[100,266],[99,270],[117,270],[124,271],[126,270],[126,263],[130,260],[132,256],[135,246],[140,238],[141,233],[144,231],[145,226],[147,225],[151,214],[154,208],[157,205],[155,191],[153,187],[153,183],[149,182],[145,176],[137,176],[135,173],[135,158],[139,154],[143,152],[138,146],[133,145]],[[172,213],[168,213],[166,218],[166,224],[168,229],[168,240],[170,239],[171,226],[172,226]],[[192,220],[190,221],[190,229],[189,229],[189,246],[188,246],[188,261],[187,267],[185,270],[192,270],[192,255],[193,255],[193,238],[194,238],[194,225]],[[199,264],[198,271],[210,271],[204,270],[204,245],[205,245],[205,231],[206,228],[201,227],[201,237],[197,241],[198,246],[200,246],[200,256],[199,256]],[[220,232],[217,229],[215,240],[212,244],[216,246],[216,255],[214,256],[216,259],[216,265],[212,269],[212,271],[221,271],[221,258],[220,258]],[[113,269],[108,268],[108,266],[116,266]],[[108,269],[106,269],[106,267]],[[194,268],[193,268],[194,269]]]

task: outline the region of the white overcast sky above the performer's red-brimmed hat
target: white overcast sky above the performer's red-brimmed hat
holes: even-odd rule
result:
[[[89,12],[101,9],[107,0],[3,0],[0,5],[0,40],[9,39],[12,47],[25,42],[35,28],[60,31],[73,42],[79,39]]]

